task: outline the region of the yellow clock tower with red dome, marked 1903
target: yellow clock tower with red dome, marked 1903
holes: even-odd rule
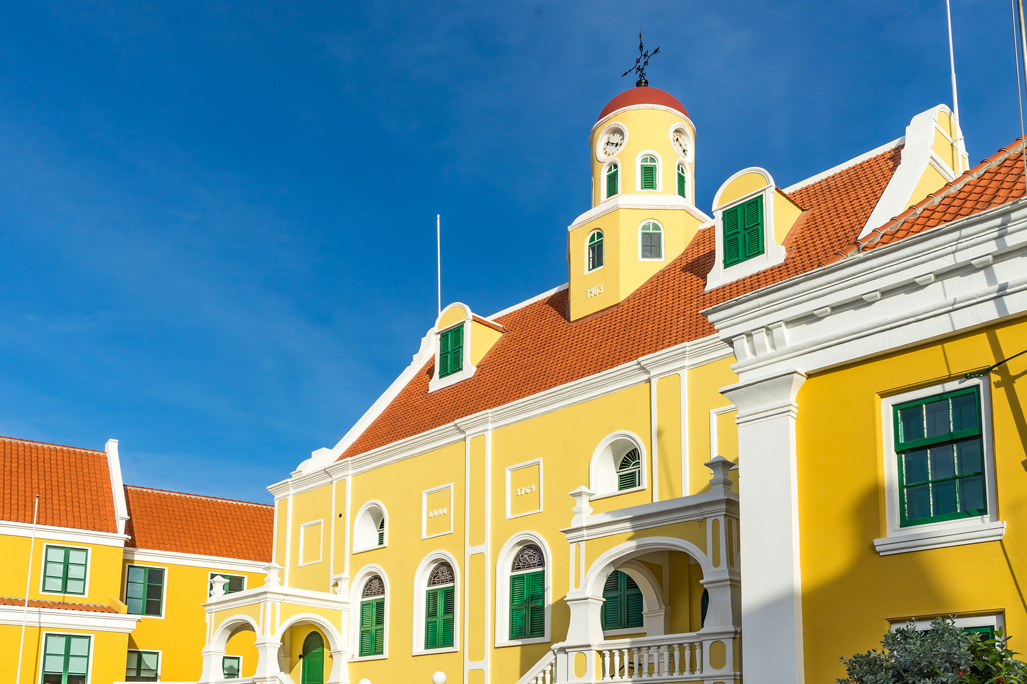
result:
[[[592,209],[568,227],[571,320],[622,301],[711,220],[695,208],[694,146],[688,112],[659,88],[603,109],[589,136]]]

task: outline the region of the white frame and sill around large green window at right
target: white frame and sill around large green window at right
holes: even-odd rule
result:
[[[886,536],[874,539],[874,547],[881,556],[982,541],[997,541],[1002,538],[1005,533],[1005,522],[998,519],[998,500],[995,495],[995,460],[991,433],[991,387],[987,380],[987,375],[983,378],[956,378],[902,394],[881,397]],[[972,387],[978,388],[981,397],[981,446],[988,514],[976,518],[944,520],[902,527],[899,511],[899,465],[895,452],[892,407],[896,404]]]

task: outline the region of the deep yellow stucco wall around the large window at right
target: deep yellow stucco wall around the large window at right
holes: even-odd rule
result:
[[[1027,536],[1021,357],[990,375],[1002,541],[879,556],[884,536],[881,396],[960,377],[1024,349],[1027,322],[952,337],[806,380],[799,396],[798,481],[806,681],[833,681],[838,658],[876,646],[889,619],[1004,611],[1011,647],[1027,650],[1020,589]],[[1018,391],[1019,390],[1019,391]],[[830,477],[826,477],[830,474]],[[851,597],[859,596],[859,601]]]

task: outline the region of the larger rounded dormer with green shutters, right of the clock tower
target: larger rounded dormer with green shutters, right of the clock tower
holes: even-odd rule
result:
[[[766,169],[752,166],[725,180],[713,200],[717,254],[707,290],[782,264],[785,237],[801,213]]]

